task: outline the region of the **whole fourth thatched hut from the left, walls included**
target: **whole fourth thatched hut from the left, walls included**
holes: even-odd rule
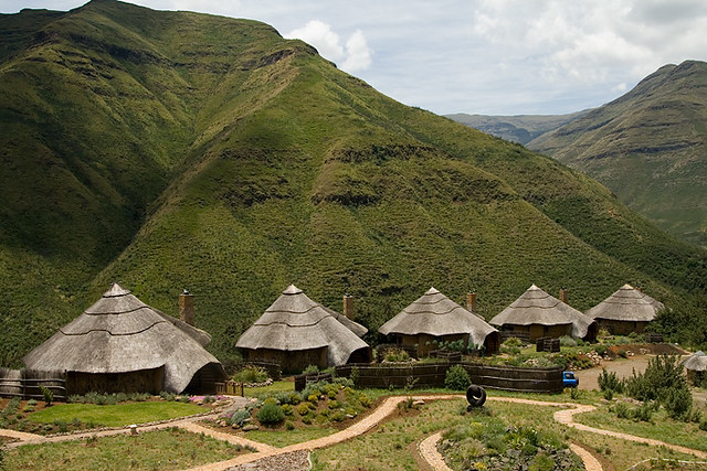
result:
[[[532,285],[489,322],[502,331],[517,331],[535,341],[541,336],[594,340],[597,323],[571,306]]]

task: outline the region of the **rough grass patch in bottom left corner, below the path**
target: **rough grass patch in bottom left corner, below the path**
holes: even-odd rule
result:
[[[80,441],[28,445],[4,451],[8,470],[175,470],[233,458],[247,452],[225,441],[176,427]],[[3,469],[6,469],[3,468]]]

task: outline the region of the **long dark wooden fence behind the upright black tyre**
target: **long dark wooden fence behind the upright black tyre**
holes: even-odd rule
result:
[[[462,365],[472,383],[492,389],[527,393],[560,393],[562,390],[562,368],[516,368],[490,366],[481,363],[411,363],[405,364],[349,364],[337,366],[337,376],[351,376],[357,368],[358,387],[401,388],[443,387],[447,370]]]

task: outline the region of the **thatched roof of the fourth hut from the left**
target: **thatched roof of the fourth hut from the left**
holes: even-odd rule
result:
[[[572,324],[572,336],[582,339],[587,336],[594,321],[532,285],[489,323],[492,325]]]

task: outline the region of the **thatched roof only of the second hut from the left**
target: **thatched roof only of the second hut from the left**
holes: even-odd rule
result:
[[[243,332],[235,346],[285,352],[326,346],[328,364],[338,366],[345,364],[357,350],[370,349],[357,335],[367,331],[365,327],[314,302],[299,288],[289,285],[263,315]]]

